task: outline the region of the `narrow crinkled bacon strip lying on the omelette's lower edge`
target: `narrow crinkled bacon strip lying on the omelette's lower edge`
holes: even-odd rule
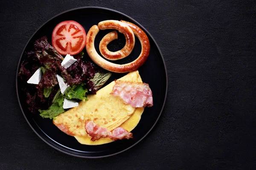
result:
[[[93,121],[85,122],[85,130],[92,137],[91,141],[99,140],[100,138],[110,138],[115,141],[132,138],[132,133],[122,127],[117,127],[111,133],[106,128],[96,125]]]

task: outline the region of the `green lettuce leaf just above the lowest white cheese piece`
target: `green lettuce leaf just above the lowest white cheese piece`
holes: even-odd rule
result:
[[[82,84],[79,85],[72,85],[70,88],[67,89],[65,95],[66,99],[80,99],[80,100],[87,100],[87,93],[88,89],[85,88]]]

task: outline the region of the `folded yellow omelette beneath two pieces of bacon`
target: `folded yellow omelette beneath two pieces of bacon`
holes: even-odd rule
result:
[[[132,71],[118,80],[142,82],[138,71]],[[100,127],[112,131],[122,127],[130,132],[140,121],[144,108],[134,108],[126,105],[118,96],[111,95],[115,81],[96,92],[88,95],[87,101],[79,102],[79,106],[56,116],[53,123],[64,133],[74,136],[81,144],[97,145],[113,142],[109,138],[91,141],[91,136],[85,130],[85,122],[93,121]]]

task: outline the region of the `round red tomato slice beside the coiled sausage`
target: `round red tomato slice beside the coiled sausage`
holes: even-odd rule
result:
[[[76,21],[63,21],[52,31],[52,46],[62,55],[78,54],[85,44],[86,33]]]

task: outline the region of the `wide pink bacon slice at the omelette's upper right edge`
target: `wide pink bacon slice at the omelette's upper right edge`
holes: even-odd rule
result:
[[[116,84],[110,94],[119,96],[126,105],[134,108],[153,106],[152,91],[144,82],[115,81]]]

